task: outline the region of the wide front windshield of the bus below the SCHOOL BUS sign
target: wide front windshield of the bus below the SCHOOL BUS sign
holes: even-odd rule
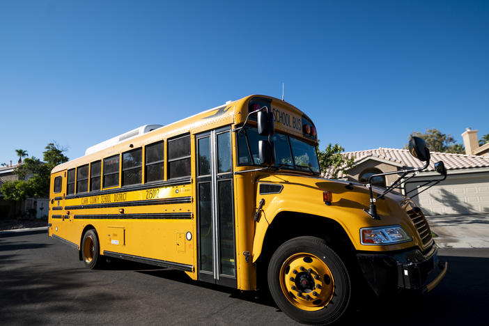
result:
[[[258,141],[261,139],[267,137],[260,136],[255,127],[244,127],[238,132],[239,165],[260,165]],[[318,155],[314,146],[277,132],[272,136],[272,141],[276,157],[274,166],[319,173]]]

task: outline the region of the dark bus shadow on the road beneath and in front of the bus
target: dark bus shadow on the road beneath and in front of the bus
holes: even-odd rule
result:
[[[344,323],[362,325],[489,325],[486,315],[489,293],[489,258],[440,256],[449,262],[449,271],[442,282],[426,295],[398,295],[378,298],[359,293],[360,300],[346,316]],[[123,263],[124,264],[124,263]],[[256,297],[254,291],[236,290],[190,279],[184,272],[132,264],[135,272],[200,286],[230,298],[272,306],[279,311],[269,293]]]

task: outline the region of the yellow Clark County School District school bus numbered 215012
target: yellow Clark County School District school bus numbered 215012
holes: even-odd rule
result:
[[[49,236],[89,268],[114,257],[268,288],[302,323],[338,320],[359,284],[376,295],[436,286],[447,265],[435,271],[421,210],[398,192],[321,178],[317,145],[306,114],[265,95],[143,126],[52,170]],[[423,146],[412,153],[429,163]]]

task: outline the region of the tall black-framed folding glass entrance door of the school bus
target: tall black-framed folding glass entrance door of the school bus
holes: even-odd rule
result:
[[[196,135],[199,280],[236,286],[231,129]]]

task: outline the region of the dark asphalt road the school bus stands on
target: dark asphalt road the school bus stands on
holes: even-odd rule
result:
[[[489,249],[442,249],[442,283],[423,297],[370,295],[346,324],[489,325]],[[86,270],[77,251],[42,233],[0,235],[3,325],[293,325],[273,302],[129,262]]]

